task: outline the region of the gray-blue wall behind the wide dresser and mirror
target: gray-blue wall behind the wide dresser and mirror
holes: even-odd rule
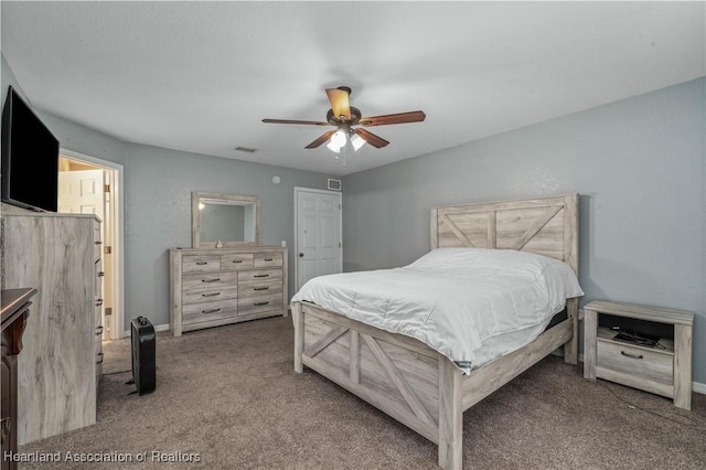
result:
[[[126,154],[126,322],[169,322],[168,249],[191,246],[193,191],[260,197],[261,244],[287,242],[293,295],[295,186],[324,189],[325,174],[141,145],[127,145]]]

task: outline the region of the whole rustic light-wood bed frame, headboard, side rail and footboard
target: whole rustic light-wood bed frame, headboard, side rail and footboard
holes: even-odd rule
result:
[[[431,210],[431,248],[517,249],[558,258],[578,273],[578,195]],[[463,412],[556,349],[577,363],[578,299],[567,319],[470,375],[413,338],[292,302],[295,371],[308,366],[439,445],[439,467],[460,469]]]

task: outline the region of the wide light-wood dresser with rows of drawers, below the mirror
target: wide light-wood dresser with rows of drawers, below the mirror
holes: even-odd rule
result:
[[[169,250],[174,337],[272,316],[287,316],[287,248]]]

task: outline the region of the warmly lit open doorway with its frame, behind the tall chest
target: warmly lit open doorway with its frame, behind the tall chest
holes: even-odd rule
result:
[[[122,338],[122,165],[62,150],[58,160],[58,212],[95,214],[103,241],[103,340]]]

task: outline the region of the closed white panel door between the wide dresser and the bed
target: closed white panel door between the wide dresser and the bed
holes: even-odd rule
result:
[[[297,290],[317,276],[342,271],[341,193],[295,188]]]

